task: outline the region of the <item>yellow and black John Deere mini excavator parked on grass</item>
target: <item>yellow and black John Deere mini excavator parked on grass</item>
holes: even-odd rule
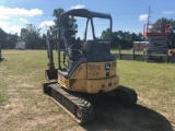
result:
[[[81,46],[77,46],[78,41],[71,44],[67,38],[66,29],[62,26],[65,16],[86,20]],[[95,34],[93,20],[96,17],[108,21],[108,37],[106,39],[100,39]],[[119,86],[116,58],[110,53],[112,16],[86,9],[73,9],[61,13],[59,24],[58,28],[47,33],[49,62],[45,74],[49,82],[43,84],[44,93],[49,95],[79,123],[93,119],[93,99],[89,99],[92,95],[109,94],[114,99],[121,99],[128,105],[136,104],[136,92]],[[86,37],[90,28],[92,32],[90,38],[92,39]],[[55,68],[54,63],[54,46],[58,51],[58,68]]]

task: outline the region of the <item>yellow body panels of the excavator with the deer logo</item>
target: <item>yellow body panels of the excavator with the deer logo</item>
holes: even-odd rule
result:
[[[105,69],[106,64],[109,64],[108,70]],[[109,92],[119,85],[116,68],[116,61],[82,63],[75,69],[70,79],[58,74],[58,83],[75,92],[90,94],[95,94],[100,91]]]

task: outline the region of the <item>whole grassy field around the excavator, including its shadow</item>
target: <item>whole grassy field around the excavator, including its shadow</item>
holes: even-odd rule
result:
[[[173,63],[118,60],[120,84],[138,93],[137,106],[109,109],[105,107],[102,115],[98,112],[100,119],[81,127],[42,92],[47,69],[46,50],[2,50],[2,57],[4,60],[0,62],[1,131],[175,130]]]

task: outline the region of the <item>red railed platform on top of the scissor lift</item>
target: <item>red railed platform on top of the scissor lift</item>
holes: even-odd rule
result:
[[[171,24],[166,24],[164,28],[155,27],[154,24],[144,24],[143,36],[167,36],[171,33]]]

